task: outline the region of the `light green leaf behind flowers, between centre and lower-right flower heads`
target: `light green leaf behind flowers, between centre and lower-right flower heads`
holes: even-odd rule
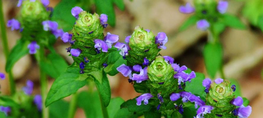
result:
[[[191,82],[187,81],[185,84],[185,91],[191,92],[192,94],[196,94],[201,97],[201,99],[205,98],[206,93],[204,92],[205,87],[202,86],[202,82],[204,80],[204,74],[195,73],[196,77],[191,79]]]

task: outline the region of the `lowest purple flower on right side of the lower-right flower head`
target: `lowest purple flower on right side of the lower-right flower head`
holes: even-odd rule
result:
[[[240,118],[247,118],[250,116],[251,112],[252,112],[252,108],[251,106],[244,106],[241,105],[240,107],[238,107],[237,109],[235,109],[236,114],[240,117]]]

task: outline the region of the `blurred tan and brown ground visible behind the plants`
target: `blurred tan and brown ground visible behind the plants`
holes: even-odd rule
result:
[[[5,21],[12,19],[19,13],[17,0],[4,0]],[[51,7],[56,6],[60,0],[50,0]],[[151,29],[154,34],[165,32],[168,36],[167,49],[160,53],[165,56],[175,58],[175,62],[180,65],[186,65],[195,72],[205,73],[204,59],[202,50],[207,42],[207,32],[196,29],[196,26],[179,32],[178,28],[190,15],[181,14],[178,7],[192,0],[124,0],[125,10],[121,11],[114,6],[116,13],[116,26],[108,26],[105,33],[119,35],[120,41],[124,42],[124,38],[131,35],[134,27],[140,25],[145,29]],[[242,96],[250,100],[252,114],[250,118],[259,118],[263,116],[261,108],[263,106],[263,34],[262,31],[251,26],[249,21],[243,17],[241,11],[245,2],[230,0],[228,12],[238,16],[244,24],[246,30],[235,30],[227,28],[222,33],[220,41],[224,49],[224,67],[226,78],[236,79],[241,86]],[[263,7],[263,6],[262,6]],[[95,6],[92,6],[95,9]],[[68,14],[71,14],[70,12]],[[18,31],[7,30],[9,48],[11,49],[15,42],[20,38]],[[1,37],[0,37],[1,38]],[[69,64],[73,60],[66,52],[69,44],[65,44],[58,39],[55,44],[56,51],[61,54]],[[5,72],[5,57],[0,45],[0,72]],[[25,81],[30,79],[34,81],[33,94],[40,93],[39,71],[33,55],[27,55],[21,58],[13,68],[14,78],[17,89],[21,90],[25,85]],[[208,78],[209,76],[206,77]],[[116,76],[108,76],[112,97],[120,96],[125,101],[132,99],[139,94],[133,89],[133,86],[121,74]],[[49,78],[49,88],[54,79]],[[8,78],[0,81],[1,93],[9,94]],[[83,87],[79,91],[88,89]],[[65,100],[69,101],[70,96]],[[76,118],[85,117],[84,111],[77,110]]]

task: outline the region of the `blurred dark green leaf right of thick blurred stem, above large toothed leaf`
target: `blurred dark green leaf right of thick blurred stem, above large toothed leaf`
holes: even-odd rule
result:
[[[67,67],[68,64],[66,63],[64,58],[62,58],[57,53],[48,54],[46,60],[40,62],[41,70],[54,79],[58,78],[59,75],[63,73]]]

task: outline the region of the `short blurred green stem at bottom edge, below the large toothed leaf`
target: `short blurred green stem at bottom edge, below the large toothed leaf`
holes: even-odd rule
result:
[[[68,116],[68,118],[74,118],[76,108],[77,108],[76,104],[77,104],[77,93],[72,94],[72,96],[71,96],[71,100],[69,103],[69,116]]]

